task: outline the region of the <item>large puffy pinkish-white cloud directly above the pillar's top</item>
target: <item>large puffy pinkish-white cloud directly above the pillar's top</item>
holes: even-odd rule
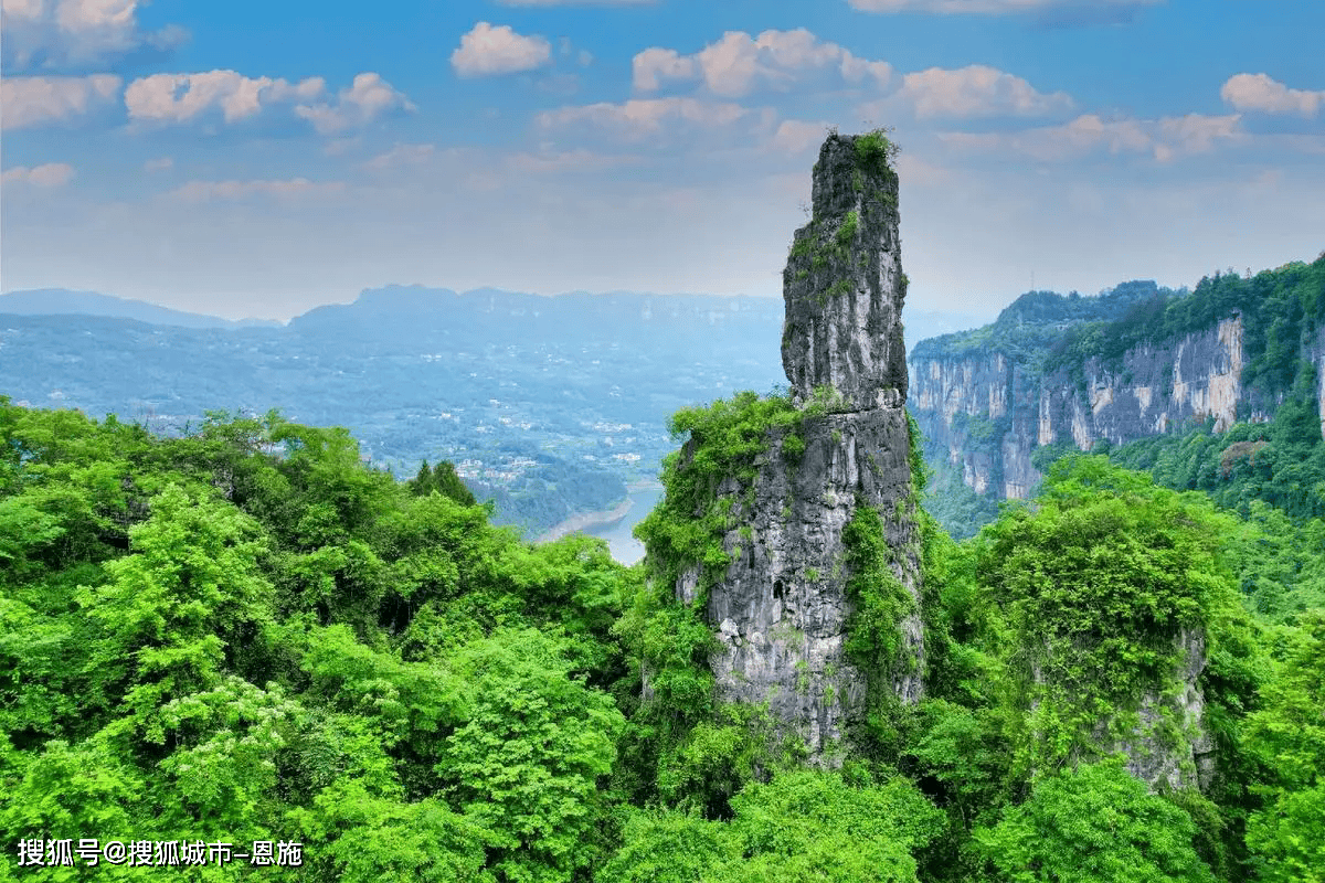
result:
[[[729,30],[690,56],[653,46],[635,56],[632,69],[639,91],[657,90],[668,79],[702,79],[709,91],[725,98],[739,98],[761,86],[788,89],[814,73],[876,86],[886,85],[892,75],[888,62],[859,58],[804,28],[765,30],[758,37]]]

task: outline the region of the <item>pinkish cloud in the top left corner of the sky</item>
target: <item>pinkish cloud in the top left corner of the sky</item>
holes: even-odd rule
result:
[[[5,69],[105,64],[140,49],[168,50],[188,38],[178,25],[144,32],[139,0],[3,0]]]

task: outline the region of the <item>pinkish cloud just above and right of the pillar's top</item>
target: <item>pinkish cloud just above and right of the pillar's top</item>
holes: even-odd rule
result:
[[[898,93],[920,118],[1041,116],[1072,107],[1067,93],[1045,94],[1031,83],[984,65],[957,70],[930,68],[902,78]]]

